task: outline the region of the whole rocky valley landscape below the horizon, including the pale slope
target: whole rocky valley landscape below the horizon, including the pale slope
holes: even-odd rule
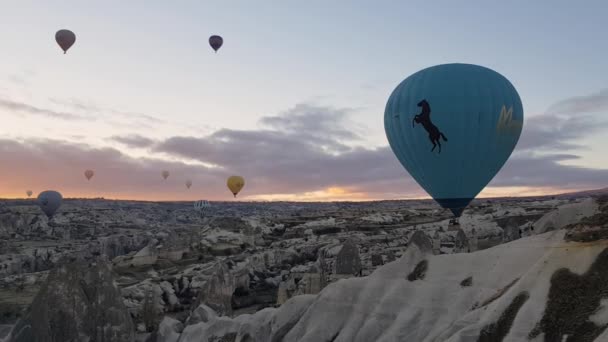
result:
[[[50,221],[2,200],[0,338],[596,341],[602,196],[480,199],[458,224],[430,200],[68,199]],[[561,334],[547,311],[570,278],[587,304]]]

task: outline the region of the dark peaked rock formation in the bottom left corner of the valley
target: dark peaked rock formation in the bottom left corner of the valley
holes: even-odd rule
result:
[[[133,339],[131,317],[103,261],[66,262],[51,271],[11,337],[14,342]]]

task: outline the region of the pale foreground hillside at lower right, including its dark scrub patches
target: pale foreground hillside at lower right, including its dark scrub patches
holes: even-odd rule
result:
[[[607,341],[608,241],[566,233],[448,255],[411,245],[368,277],[278,309],[231,319],[201,306],[207,321],[181,335],[166,318],[158,341]]]

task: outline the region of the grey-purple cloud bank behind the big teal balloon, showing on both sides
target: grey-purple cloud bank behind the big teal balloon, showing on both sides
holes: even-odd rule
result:
[[[261,123],[268,129],[223,129],[201,138],[172,137],[153,150],[247,175],[253,180],[248,184],[255,184],[252,194],[305,194],[331,187],[365,192],[373,198],[424,194],[389,147],[367,149],[343,143],[361,139],[348,129],[348,115],[345,109],[300,105],[263,118]],[[560,164],[576,155],[533,153],[582,148],[576,139],[605,127],[604,123],[586,116],[574,120],[542,115],[526,125],[518,152],[491,186],[604,186],[607,171]]]

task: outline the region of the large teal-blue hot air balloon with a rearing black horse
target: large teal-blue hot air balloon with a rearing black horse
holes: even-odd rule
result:
[[[509,159],[523,119],[521,99],[504,76],[478,65],[442,64],[395,88],[384,129],[405,169],[460,217]]]

